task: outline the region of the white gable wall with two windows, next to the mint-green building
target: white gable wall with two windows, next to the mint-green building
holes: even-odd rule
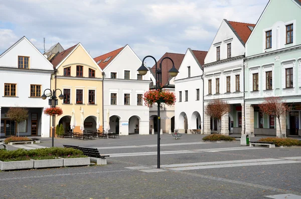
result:
[[[216,47],[220,47],[220,60],[227,59],[227,44],[231,43],[232,55],[236,57],[245,53],[244,46],[223,20],[205,58],[205,64],[216,62]]]

